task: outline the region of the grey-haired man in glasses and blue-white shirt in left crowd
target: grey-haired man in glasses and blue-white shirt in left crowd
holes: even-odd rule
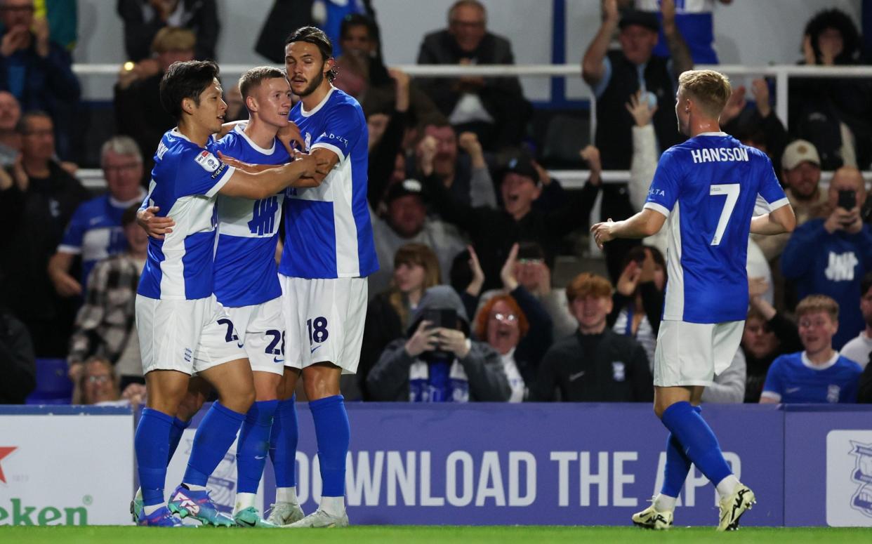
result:
[[[49,259],[49,278],[60,296],[82,295],[94,264],[125,250],[122,214],[146,196],[140,186],[142,155],[132,138],[113,136],[106,140],[100,150],[100,166],[108,192],[76,208],[64,239]],[[82,270],[78,279],[70,274],[77,255]]]

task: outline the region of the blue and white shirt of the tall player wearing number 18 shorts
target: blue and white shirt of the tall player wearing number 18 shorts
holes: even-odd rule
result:
[[[363,277],[378,270],[366,203],[369,138],[358,101],[335,87],[307,112],[290,111],[306,151],[319,147],[339,162],[319,187],[290,188],[284,200],[284,249],[279,272],[301,278]]]

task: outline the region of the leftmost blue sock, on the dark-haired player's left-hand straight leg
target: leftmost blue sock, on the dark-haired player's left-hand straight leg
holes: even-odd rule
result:
[[[172,416],[152,408],[142,410],[133,447],[140,473],[142,504],[146,507],[164,502],[163,488],[167,479],[167,453],[172,426]]]

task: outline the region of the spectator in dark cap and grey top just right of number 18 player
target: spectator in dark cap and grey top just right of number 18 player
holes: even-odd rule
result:
[[[406,244],[415,242],[433,250],[440,270],[450,269],[454,255],[467,247],[456,227],[438,217],[427,217],[425,193],[418,180],[394,183],[386,203],[385,218],[372,217],[379,269],[369,277],[371,292],[387,289],[391,279],[396,279],[391,263]]]

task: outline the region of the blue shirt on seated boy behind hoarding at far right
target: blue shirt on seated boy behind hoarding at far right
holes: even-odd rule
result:
[[[762,397],[782,403],[855,403],[862,370],[835,352],[814,366],[805,351],[776,357],[766,374]]]

